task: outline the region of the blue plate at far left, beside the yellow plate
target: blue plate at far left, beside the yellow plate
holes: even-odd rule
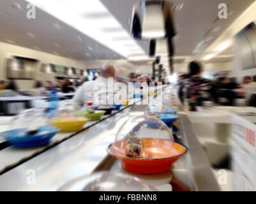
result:
[[[47,145],[50,142],[50,138],[56,135],[59,129],[52,126],[43,126],[38,129],[38,133],[33,136],[27,135],[27,129],[14,129],[3,133],[4,139],[10,142],[14,147],[28,148],[28,147],[40,147]]]

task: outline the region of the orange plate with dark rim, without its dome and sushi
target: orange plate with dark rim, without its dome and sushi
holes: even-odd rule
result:
[[[112,143],[107,148],[109,154],[121,161],[122,168],[126,171],[142,174],[154,174],[170,171],[172,164],[186,154],[187,147],[180,143],[171,143],[167,140],[144,139],[144,155],[142,158],[127,157],[125,153],[126,142]]]

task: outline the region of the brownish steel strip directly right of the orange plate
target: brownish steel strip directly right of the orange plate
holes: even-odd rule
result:
[[[188,147],[188,154],[175,163],[174,170],[172,170],[174,177],[183,184],[186,183],[191,190],[220,191],[209,160],[193,132],[188,116],[184,113],[179,116],[182,131],[181,140]]]

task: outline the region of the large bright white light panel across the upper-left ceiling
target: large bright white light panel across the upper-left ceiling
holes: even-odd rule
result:
[[[130,47],[123,46],[127,39],[130,39],[129,43],[140,50],[140,53],[145,53],[99,0],[27,1],[126,58],[130,54]]]

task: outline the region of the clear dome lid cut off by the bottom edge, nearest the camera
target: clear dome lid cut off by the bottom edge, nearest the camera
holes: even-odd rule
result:
[[[157,191],[153,186],[123,173],[93,173],[75,179],[59,191]]]

